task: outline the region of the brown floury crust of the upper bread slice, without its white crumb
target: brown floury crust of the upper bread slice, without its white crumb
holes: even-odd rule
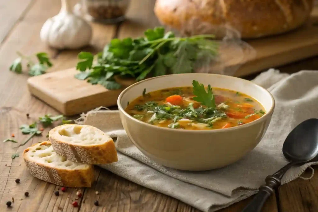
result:
[[[75,126],[75,124],[71,125]],[[57,154],[66,157],[70,161],[88,164],[108,164],[118,161],[116,147],[111,138],[108,138],[103,144],[76,145],[59,139],[59,129],[63,126],[65,125],[55,127],[49,132],[49,140]],[[85,127],[86,125],[82,126]],[[97,128],[96,130],[104,133]]]

